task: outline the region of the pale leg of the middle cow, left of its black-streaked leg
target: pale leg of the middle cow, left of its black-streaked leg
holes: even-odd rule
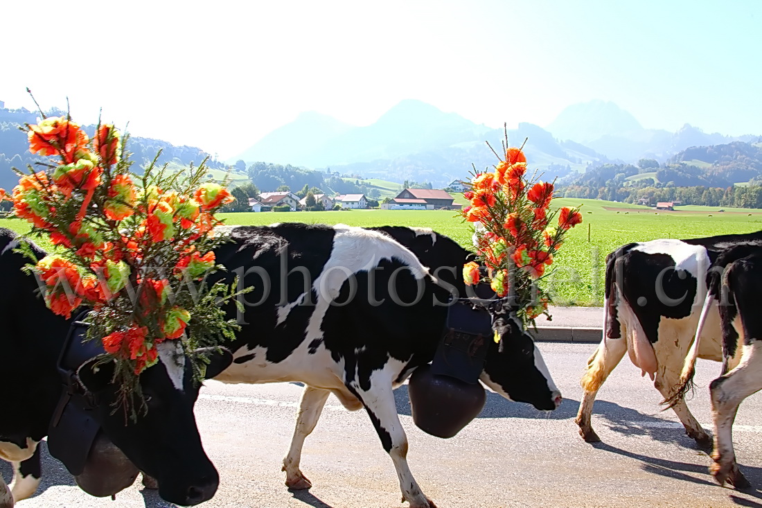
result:
[[[331,392],[322,388],[307,386],[302,394],[299,414],[296,416],[296,428],[291,438],[291,447],[286,458],[283,458],[283,470],[286,471],[286,486],[292,490],[303,490],[312,487],[312,483],[299,470],[302,459],[304,440],[315,429],[320,414]]]

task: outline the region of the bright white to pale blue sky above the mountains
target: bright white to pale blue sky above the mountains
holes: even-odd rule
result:
[[[762,134],[762,2],[8,0],[0,100],[227,158],[301,111],[405,98],[545,126],[600,98],[644,127]]]

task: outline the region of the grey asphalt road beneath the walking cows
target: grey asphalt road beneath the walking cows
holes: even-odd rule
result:
[[[542,342],[546,362],[565,400],[542,413],[489,394],[475,419],[452,439],[415,427],[406,387],[397,392],[408,432],[408,461],[418,483],[440,508],[453,506],[762,506],[762,492],[739,492],[714,483],[710,459],[684,436],[674,413],[661,412],[658,392],[625,358],[601,389],[593,424],[603,442],[590,445],[573,422],[578,380],[593,344]],[[689,406],[710,429],[706,386],[719,364],[701,360],[701,389]],[[349,413],[332,396],[305,445],[302,470],[309,491],[283,485],[287,452],[301,388],[298,384],[225,385],[211,381],[197,404],[207,453],[220,471],[216,496],[201,506],[315,508],[407,506],[392,461],[363,411]],[[759,395],[741,405],[736,420],[738,461],[762,487]],[[84,494],[59,462],[44,453],[45,480],[20,508],[51,506],[171,506],[139,481],[116,501]],[[8,478],[5,462],[0,471]]]

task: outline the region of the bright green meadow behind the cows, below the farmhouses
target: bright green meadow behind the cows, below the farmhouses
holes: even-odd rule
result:
[[[656,213],[651,208],[591,199],[557,198],[553,207],[580,206],[584,222],[568,233],[554,268],[544,283],[555,304],[595,306],[603,301],[604,259],[626,243],[657,238],[697,238],[762,230],[762,210],[717,207],[680,207],[683,213]],[[607,208],[613,208],[609,210]],[[431,227],[470,246],[472,229],[453,211],[352,210],[325,212],[264,212],[219,214],[229,225],[267,225],[279,222],[344,223],[350,226],[399,225]],[[28,230],[21,220],[2,219],[0,226],[20,233]],[[589,235],[589,240],[588,240]],[[44,246],[44,243],[43,243]]]

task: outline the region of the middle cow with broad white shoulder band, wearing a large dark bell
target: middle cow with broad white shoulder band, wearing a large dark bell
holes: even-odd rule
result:
[[[283,462],[287,485],[310,486],[299,470],[301,448],[332,393],[349,410],[365,407],[395,465],[403,498],[415,508],[433,506],[408,468],[408,442],[392,390],[434,358],[447,317],[447,307],[434,299],[446,304],[450,291],[432,274],[453,284],[467,251],[453,249],[448,259],[431,262],[451,269],[430,274],[410,250],[374,230],[280,224],[236,227],[230,235],[234,242],[217,249],[217,261],[255,289],[246,295],[246,324],[230,346],[235,359],[216,379],[306,384]],[[432,248],[436,261],[437,235],[422,232],[418,240],[423,250]],[[561,394],[517,323],[506,320],[501,348],[491,342],[482,382],[505,397],[554,410]]]

